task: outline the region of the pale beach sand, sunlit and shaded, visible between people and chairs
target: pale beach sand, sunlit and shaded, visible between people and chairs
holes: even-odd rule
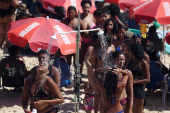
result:
[[[7,49],[0,49],[0,56],[7,55]],[[30,70],[38,64],[36,56],[23,56],[26,68]],[[166,66],[169,67],[170,56],[166,55]],[[87,82],[86,68],[83,70],[82,80]],[[59,113],[74,113],[75,103],[73,102],[74,92],[73,88],[61,88],[65,103],[61,105]],[[13,88],[5,87],[4,90],[0,88],[0,113],[24,113],[21,107],[22,93],[14,92]],[[81,88],[80,97],[84,98],[84,90]],[[146,106],[144,113],[170,113],[170,95],[167,94],[166,104],[162,102],[162,92],[160,90],[153,92],[146,92]],[[82,110],[83,101],[80,101],[80,113],[85,113]]]

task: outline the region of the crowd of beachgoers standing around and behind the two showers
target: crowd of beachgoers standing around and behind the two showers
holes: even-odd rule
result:
[[[145,86],[150,82],[151,55],[142,47],[142,36],[128,30],[118,5],[105,1],[96,1],[95,5],[97,9],[90,14],[91,0],[81,2],[80,29],[100,28],[104,31],[103,35],[81,33],[80,72],[82,74],[85,62],[88,78],[84,85],[83,109],[87,113],[143,113]],[[55,11],[57,14],[44,9],[39,0],[0,0],[0,47],[4,41],[5,47],[9,47],[8,24],[15,20],[49,16],[78,30],[76,7],[59,6]],[[65,56],[69,66],[74,56]],[[29,76],[22,97],[25,113],[32,109],[37,109],[38,113],[54,113],[59,109],[57,105],[64,102],[59,89],[60,73],[55,66],[49,65],[49,60],[48,51],[40,50],[39,64],[27,72]],[[168,73],[164,68],[163,73]],[[29,97],[30,110],[27,109]]]

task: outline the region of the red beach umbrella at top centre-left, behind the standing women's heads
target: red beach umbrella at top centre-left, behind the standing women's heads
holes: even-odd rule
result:
[[[43,1],[43,7],[53,13],[55,12],[56,6],[63,6],[66,10],[69,6],[75,6],[76,10],[78,10],[82,13],[82,7],[81,7],[81,1],[82,0],[42,0]],[[95,3],[91,0],[92,6],[90,9],[90,13],[93,14],[93,12],[96,10]]]

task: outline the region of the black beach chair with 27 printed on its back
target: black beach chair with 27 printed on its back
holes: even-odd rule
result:
[[[19,88],[24,86],[25,64],[23,59],[13,56],[2,57],[0,71],[3,87]]]

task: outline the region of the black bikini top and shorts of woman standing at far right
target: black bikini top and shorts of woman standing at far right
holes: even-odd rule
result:
[[[127,69],[129,69],[129,67],[132,63],[133,63],[133,60],[129,63],[129,65],[127,66]],[[139,64],[136,67],[136,69],[132,71],[132,74],[133,74],[133,76],[143,77],[143,73],[139,67]],[[133,85],[133,93],[134,93],[134,98],[145,99],[145,91],[144,91],[143,84],[134,84]]]

